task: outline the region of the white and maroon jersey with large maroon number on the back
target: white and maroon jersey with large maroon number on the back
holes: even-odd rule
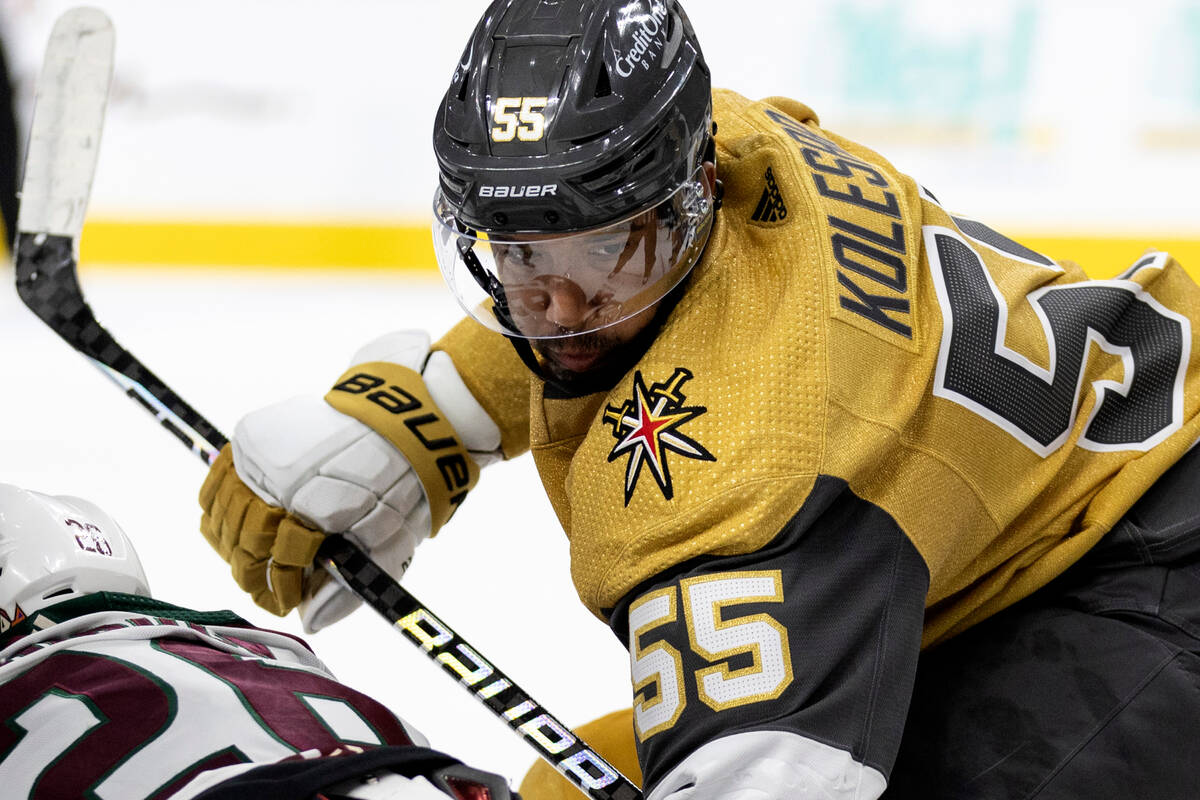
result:
[[[229,612],[102,593],[34,614],[0,645],[6,798],[191,796],[209,770],[425,744],[304,642]]]

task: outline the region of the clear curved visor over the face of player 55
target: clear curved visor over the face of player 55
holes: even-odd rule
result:
[[[438,266],[458,302],[529,339],[590,333],[649,308],[696,264],[712,224],[702,169],[648,211],[565,236],[472,230],[440,190],[433,198]]]

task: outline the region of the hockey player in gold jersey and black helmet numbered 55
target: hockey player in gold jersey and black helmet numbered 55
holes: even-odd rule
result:
[[[1196,798],[1200,288],[944,207],[713,91],[674,0],[497,0],[437,110],[474,319],[254,411],[202,491],[310,627],[532,451],[630,651],[650,800]]]

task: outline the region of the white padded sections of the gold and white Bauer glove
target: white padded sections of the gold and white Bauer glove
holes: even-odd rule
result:
[[[499,461],[500,431],[470,395],[445,353],[430,354],[424,331],[383,336],[352,365],[390,361],[420,372],[434,403],[480,467]],[[430,535],[430,505],[401,452],[362,422],[316,396],[246,415],[234,432],[238,476],[263,500],[314,529],[346,534],[394,578]],[[330,581],[306,582],[307,632],[354,610],[360,600]]]

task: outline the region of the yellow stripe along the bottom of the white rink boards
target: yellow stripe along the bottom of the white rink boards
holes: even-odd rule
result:
[[[1200,231],[1188,235],[1045,234],[1013,236],[1050,258],[1110,277],[1147,248],[1172,253],[1200,279]],[[125,266],[218,265],[281,269],[434,271],[430,227],[419,222],[245,223],[95,219],[84,227],[80,261]]]

